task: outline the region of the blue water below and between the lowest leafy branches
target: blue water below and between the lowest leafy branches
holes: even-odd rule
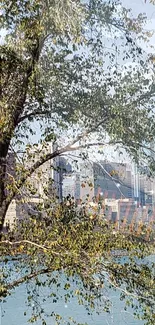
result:
[[[67,325],[67,321],[69,317],[73,317],[80,324],[88,324],[88,325],[143,325],[144,322],[141,320],[137,320],[133,316],[133,310],[127,309],[124,310],[124,302],[119,299],[119,291],[114,291],[113,289],[104,288],[104,298],[105,300],[110,299],[110,313],[101,312],[101,307],[99,307],[98,311],[100,314],[98,315],[96,312],[93,312],[92,315],[88,315],[86,308],[84,306],[79,305],[77,298],[71,298],[70,301],[65,302],[64,293],[66,293],[63,289],[64,284],[66,282],[64,275],[60,275],[60,283],[62,287],[58,289],[59,300],[57,303],[53,303],[53,298],[48,298],[48,295],[51,292],[56,292],[55,285],[52,284],[51,287],[36,287],[38,293],[38,297],[35,302],[32,302],[31,306],[27,304],[27,289],[29,290],[32,287],[28,285],[22,284],[14,291],[12,294],[6,298],[5,302],[1,303],[0,306],[0,325],[28,325],[28,319],[32,314],[33,307],[37,304],[40,304],[44,309],[46,314],[51,314],[55,312],[63,316],[65,323],[62,324]],[[33,285],[33,284],[32,284]],[[71,281],[71,289],[77,289],[76,285]],[[34,286],[35,288],[35,286]],[[46,299],[44,301],[44,298]],[[24,315],[26,313],[26,315]],[[47,317],[45,318],[48,325],[56,325],[54,318]],[[34,322],[35,325],[41,325],[42,322],[40,320]],[[61,323],[60,323],[61,324]]]

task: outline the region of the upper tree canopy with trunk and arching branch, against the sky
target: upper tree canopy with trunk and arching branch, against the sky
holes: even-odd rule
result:
[[[71,19],[66,23],[68,15]],[[108,5],[102,1],[90,1],[86,5],[74,1],[61,2],[61,5],[57,1],[45,5],[39,1],[9,5],[7,1],[2,2],[1,25],[8,35],[1,46],[1,228],[16,194],[16,190],[11,194],[5,191],[8,152],[16,150],[16,140],[19,143],[29,128],[29,121],[40,120],[43,127],[42,119],[47,119],[45,141],[55,137],[56,128],[62,124],[68,127],[76,122],[80,131],[71,143],[52,156],[42,157],[24,176],[20,175],[17,188],[47,159],[72,150],[75,143],[96,130],[101,139],[104,132],[109,134],[112,143],[122,143],[135,158],[144,138],[146,146],[153,139],[154,84],[149,83],[145,74],[147,62],[145,65],[141,62],[133,78],[130,72],[122,75],[121,51],[116,44],[107,51],[101,41],[104,29],[107,33],[110,28],[112,32],[122,32],[136,60],[141,49],[130,33],[135,31],[141,35],[144,18],[140,15],[132,20],[125,9],[120,16],[117,3],[113,2]],[[129,54],[124,44],[122,50],[121,61],[125,62]],[[110,57],[110,65],[104,63],[103,57]],[[63,120],[58,119],[58,114]],[[55,122],[54,130],[51,120]],[[146,150],[143,154],[146,156]]]

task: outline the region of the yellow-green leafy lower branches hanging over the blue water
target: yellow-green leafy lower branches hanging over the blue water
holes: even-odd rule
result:
[[[70,205],[49,207],[46,212],[40,206],[40,211],[40,216],[32,215],[3,236],[2,297],[21,283],[31,283],[31,279],[35,279],[38,287],[50,288],[49,295],[57,302],[59,291],[57,293],[54,287],[58,289],[64,283],[61,277],[64,274],[66,302],[77,296],[89,313],[96,310],[96,301],[100,312],[108,312],[110,301],[104,300],[104,295],[109,286],[120,290],[121,299],[126,299],[127,306],[131,305],[135,314],[144,317],[146,324],[154,323],[154,263],[149,265],[145,260],[154,252],[154,243],[149,241],[151,234],[146,237],[145,229],[139,234],[136,227],[131,232],[129,226],[117,232],[115,224],[101,220],[97,215],[92,218],[85,208],[77,212],[71,201]],[[122,252],[128,255],[125,262],[119,258]],[[9,279],[12,266],[9,274],[7,256],[16,258],[14,272],[20,269],[23,276]],[[26,270],[25,275],[22,269]],[[45,276],[40,277],[41,274]],[[76,282],[74,291],[72,281]],[[32,288],[29,286],[30,304],[36,297]],[[138,306],[142,314],[139,314]],[[35,312],[36,319],[44,318],[40,310]]]

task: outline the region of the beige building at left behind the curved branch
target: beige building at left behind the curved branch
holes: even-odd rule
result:
[[[24,172],[31,168],[43,155],[52,153],[55,150],[53,144],[34,145],[33,148],[27,148],[27,152],[23,155],[22,161],[16,161],[14,156],[10,155],[7,166],[7,178],[18,180],[17,169]],[[26,180],[21,187],[18,195],[11,202],[5,220],[5,227],[10,224],[12,227],[15,220],[23,219],[28,215],[36,213],[36,206],[42,203],[47,197],[60,198],[60,172],[58,169],[59,157],[50,159],[42,164],[33,174]],[[21,174],[22,175],[22,174]]]

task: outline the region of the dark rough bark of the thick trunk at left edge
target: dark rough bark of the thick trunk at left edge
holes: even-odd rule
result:
[[[37,42],[36,48],[33,51],[32,60],[30,62],[29,67],[27,68],[27,70],[25,70],[25,72],[24,72],[24,69],[21,68],[21,66],[19,66],[19,68],[21,68],[21,73],[23,74],[23,82],[20,85],[19,89],[17,87],[18,95],[15,96],[14,99],[12,99],[13,102],[11,103],[11,105],[7,98],[8,94],[6,93],[6,96],[4,95],[4,97],[6,97],[6,98],[4,98],[4,102],[8,101],[8,103],[9,103],[9,108],[8,108],[9,114],[8,114],[8,121],[7,121],[8,122],[7,129],[3,130],[3,128],[2,128],[2,131],[1,131],[2,134],[0,135],[0,238],[2,236],[6,212],[7,212],[9,203],[12,200],[8,197],[8,193],[6,192],[7,154],[8,154],[8,150],[9,150],[9,146],[10,146],[10,141],[14,134],[14,130],[18,125],[20,116],[23,113],[24,104],[25,104],[25,100],[26,100],[26,96],[27,96],[27,92],[28,92],[30,77],[34,71],[34,67],[35,67],[36,63],[39,60],[41,48],[39,48],[38,44],[39,44],[39,40]],[[16,57],[16,54],[15,54],[15,57]],[[24,62],[23,62],[23,64],[24,64]],[[18,68],[18,62],[17,62],[16,69],[17,68]],[[15,87],[15,89],[16,89],[16,87]],[[0,88],[0,93],[1,92],[2,92],[2,89]],[[14,92],[14,93],[16,93],[16,92]],[[4,91],[4,94],[5,94],[5,91]],[[5,115],[5,109],[2,109],[2,107],[0,108],[0,112],[3,112],[4,115]],[[5,118],[7,118],[7,115],[5,116]]]

